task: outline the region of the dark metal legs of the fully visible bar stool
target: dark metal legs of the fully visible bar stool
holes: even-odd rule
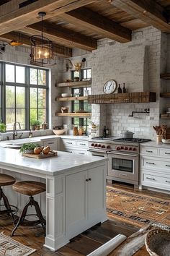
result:
[[[27,214],[27,208],[29,206],[34,206],[35,207],[35,211],[36,214]],[[38,202],[34,200],[34,197],[30,197],[30,201],[27,202],[27,204],[24,206],[24,209],[22,210],[21,216],[19,217],[19,220],[17,221],[16,226],[14,227],[14,229],[12,230],[12,236],[14,236],[14,232],[17,230],[17,228],[19,227],[19,225],[24,225],[24,218],[26,216],[37,216],[38,220],[37,221],[27,221],[27,223],[29,223],[28,225],[37,225],[37,224],[41,224],[43,231],[45,232],[45,219],[42,216],[41,210],[40,210],[40,206],[38,205]],[[25,224],[26,225],[26,224]]]

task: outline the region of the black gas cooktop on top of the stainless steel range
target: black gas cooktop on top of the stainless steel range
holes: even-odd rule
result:
[[[115,142],[133,142],[133,143],[143,143],[151,141],[150,139],[140,139],[140,138],[115,138],[114,136],[108,137],[92,137],[92,140],[108,140],[108,141],[115,141]]]

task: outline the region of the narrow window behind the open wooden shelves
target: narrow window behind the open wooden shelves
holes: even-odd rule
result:
[[[80,72],[73,71],[73,77],[79,77],[79,80],[91,80],[91,69],[81,69]],[[76,88],[72,89],[72,95],[75,96],[86,96],[91,94],[91,88]],[[91,113],[91,104],[87,101],[72,101],[72,112],[83,110]],[[90,118],[73,117],[72,124],[79,127],[83,127],[87,132],[89,124],[91,124]]]

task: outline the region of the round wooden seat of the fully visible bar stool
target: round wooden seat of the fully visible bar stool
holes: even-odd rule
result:
[[[12,188],[14,191],[19,192],[23,195],[37,195],[41,192],[45,192],[45,184],[42,182],[33,182],[33,181],[25,181],[25,182],[17,182]]]

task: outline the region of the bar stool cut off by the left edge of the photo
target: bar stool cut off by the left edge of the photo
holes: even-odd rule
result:
[[[14,177],[7,175],[7,174],[0,174],[0,201],[2,199],[4,201],[4,205],[0,205],[0,206],[4,206],[6,208],[5,210],[0,210],[0,214],[7,213],[7,214],[11,215],[13,219],[14,219],[14,212],[17,213],[18,209],[14,205],[9,205],[9,200],[6,197],[6,195],[4,195],[4,192],[1,187],[9,186],[14,183],[15,183]],[[14,208],[14,210],[12,210],[12,208]]]

